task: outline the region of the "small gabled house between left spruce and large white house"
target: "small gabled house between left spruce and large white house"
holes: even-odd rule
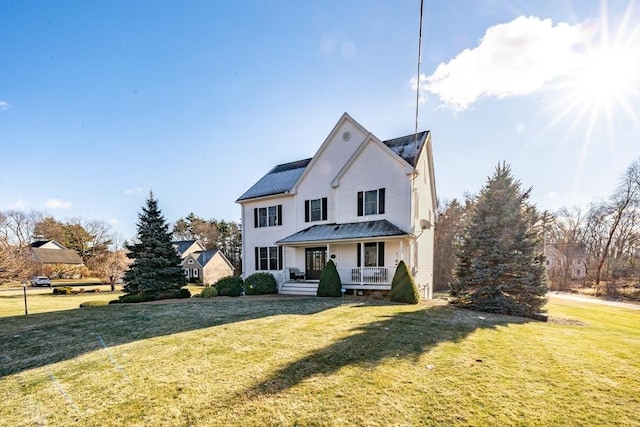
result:
[[[213,284],[233,275],[233,265],[219,250],[206,250],[197,240],[171,242],[180,258],[189,282]]]

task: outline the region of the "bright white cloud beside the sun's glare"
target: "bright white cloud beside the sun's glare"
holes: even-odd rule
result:
[[[463,111],[480,97],[527,95],[582,63],[582,27],[521,16],[489,28],[477,47],[465,49],[430,76],[420,76],[426,92]],[[413,90],[417,79],[411,80]]]

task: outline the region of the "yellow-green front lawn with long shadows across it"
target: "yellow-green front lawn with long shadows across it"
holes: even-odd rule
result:
[[[100,297],[0,292],[0,425],[640,426],[640,311]]]

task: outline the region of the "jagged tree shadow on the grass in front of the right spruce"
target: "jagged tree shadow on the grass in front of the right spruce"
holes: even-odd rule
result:
[[[447,306],[426,307],[388,315],[354,328],[354,335],[341,339],[280,369],[269,379],[242,393],[251,398],[277,394],[308,378],[330,375],[346,366],[372,369],[383,361],[413,359],[442,342],[459,342],[477,329],[495,329],[531,319],[488,314]]]

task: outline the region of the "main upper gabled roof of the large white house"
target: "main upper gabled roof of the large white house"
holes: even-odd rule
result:
[[[322,151],[323,147],[328,144],[328,142],[332,139],[333,135],[338,131],[341,124],[348,120],[357,128],[360,128],[363,133],[367,133],[368,131],[362,127],[358,122],[356,122],[349,114],[344,113],[338,123],[334,126],[334,128],[329,133],[329,136],[325,139],[322,146],[318,150],[318,153]],[[369,133],[369,136],[374,138],[376,141],[382,142],[382,144],[386,145],[391,151],[405,160],[409,165],[415,167],[416,161],[416,153],[420,153],[422,147],[427,141],[427,137],[429,135],[429,131],[422,131],[417,134],[417,142],[416,142],[416,134],[410,134],[406,136],[402,136],[399,138],[390,139],[387,141],[379,141],[375,136]],[[316,153],[317,156],[317,153]],[[290,163],[283,163],[277,165],[273,169],[271,169],[265,176],[260,178],[258,182],[256,182],[249,190],[247,190],[242,196],[240,196],[236,202],[242,202],[249,199],[256,199],[259,197],[272,196],[276,194],[285,194],[291,191],[298,181],[300,177],[304,174],[307,166],[313,161],[313,158],[297,160]]]

